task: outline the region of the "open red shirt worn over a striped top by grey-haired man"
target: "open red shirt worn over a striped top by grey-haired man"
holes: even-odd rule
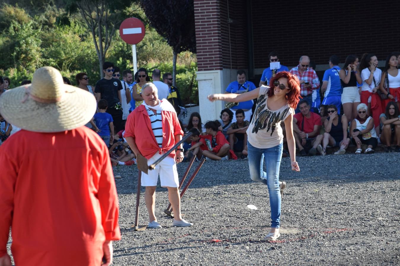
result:
[[[146,107],[140,105],[133,110],[126,119],[124,138],[132,137],[142,156],[147,159],[156,152],[167,152],[175,145],[175,136],[183,135],[176,112],[161,111],[162,117],[162,148],[160,148],[151,128],[150,118]],[[175,151],[169,155],[175,157]]]

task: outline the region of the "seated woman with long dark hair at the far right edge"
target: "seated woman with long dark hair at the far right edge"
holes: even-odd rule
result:
[[[380,140],[386,144],[386,152],[392,152],[392,144],[396,142],[395,152],[400,152],[400,113],[396,102],[388,102],[385,113],[379,116]]]

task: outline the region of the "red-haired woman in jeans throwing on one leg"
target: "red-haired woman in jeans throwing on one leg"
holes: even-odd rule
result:
[[[250,178],[268,186],[271,207],[271,230],[265,240],[276,240],[280,227],[280,203],[285,182],[279,182],[282,159],[283,134],[280,122],[284,121],[292,170],[300,171],[296,162],[293,136],[293,114],[300,96],[300,82],[288,71],[276,74],[269,87],[261,87],[243,94],[212,94],[210,101],[244,102],[257,99],[256,110],[247,129],[247,146]],[[266,172],[263,171],[263,160]],[[281,191],[282,190],[282,191]]]

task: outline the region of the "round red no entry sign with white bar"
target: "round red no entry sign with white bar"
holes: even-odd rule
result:
[[[140,43],[144,37],[144,33],[144,24],[138,18],[127,18],[121,23],[120,36],[126,43]]]

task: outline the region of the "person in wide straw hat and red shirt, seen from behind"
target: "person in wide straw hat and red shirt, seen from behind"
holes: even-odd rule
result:
[[[96,99],[52,67],[0,97],[22,130],[0,147],[0,265],[99,266],[121,238],[118,198],[104,141],[84,125]]]

